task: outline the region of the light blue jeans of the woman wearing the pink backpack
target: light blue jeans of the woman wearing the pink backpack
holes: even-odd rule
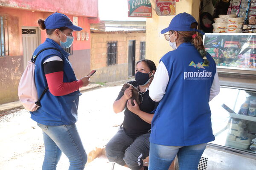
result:
[[[44,163],[42,170],[56,170],[63,152],[70,161],[69,170],[83,170],[87,155],[81,142],[76,124],[47,126],[38,123],[43,130]]]

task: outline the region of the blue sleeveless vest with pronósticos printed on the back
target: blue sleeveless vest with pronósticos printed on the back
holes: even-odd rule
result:
[[[209,65],[194,45],[182,43],[161,59],[169,74],[166,94],[152,120],[150,142],[167,146],[189,146],[213,141],[209,94],[216,64]]]

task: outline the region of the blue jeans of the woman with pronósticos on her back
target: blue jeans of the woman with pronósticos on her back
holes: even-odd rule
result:
[[[179,170],[198,170],[207,143],[192,146],[164,146],[150,143],[148,170],[168,170],[175,156]]]

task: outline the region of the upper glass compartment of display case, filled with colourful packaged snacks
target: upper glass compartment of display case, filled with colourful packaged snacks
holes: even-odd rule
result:
[[[256,34],[206,33],[204,47],[217,68],[256,71]]]

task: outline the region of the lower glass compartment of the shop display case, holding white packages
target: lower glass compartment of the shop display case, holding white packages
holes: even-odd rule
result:
[[[212,144],[256,154],[256,91],[224,88],[209,102]]]

